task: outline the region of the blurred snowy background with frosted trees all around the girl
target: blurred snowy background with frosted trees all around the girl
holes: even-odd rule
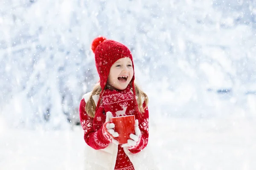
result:
[[[0,169],[81,170],[90,50],[127,45],[161,170],[256,169],[256,1],[0,0]]]

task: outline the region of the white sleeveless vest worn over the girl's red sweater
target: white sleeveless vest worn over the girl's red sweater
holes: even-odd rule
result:
[[[91,92],[84,94],[84,101],[87,103]],[[99,95],[94,95],[93,100],[97,105]],[[118,146],[110,143],[108,147],[100,150],[95,150],[85,144],[84,150],[84,170],[114,170],[116,164],[116,156]],[[124,148],[126,155],[134,165],[135,170],[158,170],[152,159],[150,149],[145,147],[139,153],[131,153]]]

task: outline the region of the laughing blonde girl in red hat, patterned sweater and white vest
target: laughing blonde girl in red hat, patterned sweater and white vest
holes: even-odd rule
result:
[[[93,40],[99,83],[81,99],[79,113],[87,170],[154,170],[144,148],[148,144],[148,98],[134,83],[134,63],[130,50],[119,42],[97,37]],[[113,139],[111,116],[134,115],[135,134],[126,144]]]

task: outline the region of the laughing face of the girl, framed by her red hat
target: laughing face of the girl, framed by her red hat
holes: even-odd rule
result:
[[[128,57],[117,60],[110,68],[108,83],[118,90],[124,90],[131,82],[134,71]],[[109,88],[109,87],[108,87]]]

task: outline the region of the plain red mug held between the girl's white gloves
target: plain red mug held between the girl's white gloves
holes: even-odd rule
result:
[[[130,139],[130,134],[135,133],[135,116],[111,117],[110,120],[115,124],[114,130],[119,134],[119,136],[114,139],[116,139],[119,144],[126,144],[127,140]]]

